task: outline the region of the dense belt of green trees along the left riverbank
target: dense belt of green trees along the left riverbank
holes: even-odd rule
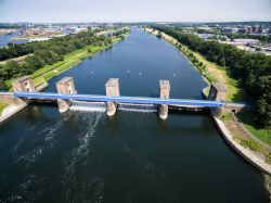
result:
[[[29,55],[24,59],[23,63],[9,60],[4,64],[0,64],[0,89],[7,89],[5,80],[33,74],[35,71],[47,64],[51,65],[57,61],[62,61],[66,53],[70,53],[89,45],[101,47],[103,45],[107,46],[112,43],[113,41],[111,38],[105,36],[96,37],[89,30],[49,41],[9,45],[7,48],[0,49],[0,55],[2,59],[11,59],[25,54]],[[91,52],[91,50],[88,51]]]

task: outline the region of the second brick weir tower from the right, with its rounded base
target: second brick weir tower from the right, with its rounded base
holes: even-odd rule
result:
[[[169,80],[159,80],[160,85],[160,99],[167,100],[169,99],[170,84]],[[159,105],[159,118],[166,119],[168,117],[168,105],[160,104]]]

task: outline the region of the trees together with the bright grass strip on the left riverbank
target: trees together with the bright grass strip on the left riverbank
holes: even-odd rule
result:
[[[0,89],[10,88],[12,78],[24,75],[31,75],[35,84],[39,85],[95,52],[108,48],[116,40],[120,40],[127,31],[117,31],[109,38],[102,35],[96,37],[89,30],[49,41],[9,45],[8,48],[1,48],[0,61],[31,54],[22,63],[9,60],[0,64]]]

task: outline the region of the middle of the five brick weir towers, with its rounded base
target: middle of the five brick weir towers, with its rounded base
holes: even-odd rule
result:
[[[106,96],[108,97],[119,97],[119,79],[118,78],[111,78],[106,84],[105,84],[105,91]],[[107,115],[113,116],[116,111],[117,111],[117,103],[115,102],[107,102]]]

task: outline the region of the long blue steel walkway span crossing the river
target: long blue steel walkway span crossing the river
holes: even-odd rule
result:
[[[141,97],[107,97],[96,94],[64,94],[50,92],[14,92],[13,97],[22,99],[37,100],[72,100],[72,101],[99,101],[99,102],[121,102],[121,103],[139,103],[139,104],[166,104],[191,107],[222,107],[224,102],[208,100],[186,100],[186,99],[159,99],[159,98],[141,98]]]

